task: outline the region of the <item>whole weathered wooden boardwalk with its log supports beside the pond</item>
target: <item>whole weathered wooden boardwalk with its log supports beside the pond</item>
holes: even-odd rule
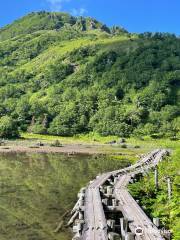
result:
[[[162,240],[158,228],[126,187],[134,176],[154,168],[167,154],[166,150],[155,150],[130,167],[104,173],[90,182],[84,193],[81,192],[80,199],[83,201],[76,204],[76,215],[69,223],[74,224],[73,240]],[[108,206],[109,201],[115,206]],[[111,209],[114,216],[116,212],[121,213],[118,224],[113,217],[107,219],[106,209]],[[114,227],[110,227],[108,221]],[[124,227],[124,224],[127,226]]]

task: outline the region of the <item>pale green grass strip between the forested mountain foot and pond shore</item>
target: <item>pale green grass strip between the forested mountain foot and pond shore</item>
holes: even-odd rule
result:
[[[117,136],[103,137],[97,133],[79,134],[73,137],[61,137],[52,135],[40,135],[31,133],[21,133],[21,137],[28,141],[44,141],[49,144],[58,140],[62,144],[81,144],[81,145],[98,145],[98,150],[105,154],[112,155],[121,160],[123,156],[127,156],[132,163],[139,159],[141,154],[146,154],[157,148],[166,148],[172,151],[172,157],[177,149],[180,149],[180,141],[172,141],[170,139],[152,139],[150,137],[127,138],[126,148],[123,144],[118,143],[120,138]],[[117,144],[107,144],[111,141],[117,141]],[[23,144],[23,143],[22,143]]]

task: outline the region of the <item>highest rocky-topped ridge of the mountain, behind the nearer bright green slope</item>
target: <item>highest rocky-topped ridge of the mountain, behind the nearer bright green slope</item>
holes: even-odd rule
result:
[[[16,37],[20,34],[31,34],[42,30],[59,31],[64,27],[73,27],[76,30],[88,31],[99,29],[107,33],[111,32],[105,24],[90,17],[74,17],[63,12],[32,12],[13,23],[0,28],[0,38],[6,40]],[[116,29],[116,28],[114,28]],[[124,31],[123,28],[117,28],[118,31]]]

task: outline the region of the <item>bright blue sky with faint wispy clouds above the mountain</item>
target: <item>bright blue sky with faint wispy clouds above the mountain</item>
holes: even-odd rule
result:
[[[91,16],[130,32],[180,35],[180,0],[0,0],[0,26],[40,10]]]

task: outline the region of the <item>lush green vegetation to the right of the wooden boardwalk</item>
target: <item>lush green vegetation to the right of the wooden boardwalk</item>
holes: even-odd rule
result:
[[[134,140],[131,140],[134,143]],[[141,144],[141,142],[138,142]],[[163,147],[171,151],[158,166],[159,189],[155,189],[154,171],[150,171],[140,181],[130,185],[130,190],[135,199],[144,206],[146,213],[151,217],[160,219],[161,227],[169,229],[172,233],[171,239],[179,240],[179,182],[180,182],[180,141],[170,141],[168,139],[151,140],[146,139],[145,144],[152,148]],[[141,145],[143,147],[143,143]],[[172,196],[168,199],[167,177],[171,179]]]

